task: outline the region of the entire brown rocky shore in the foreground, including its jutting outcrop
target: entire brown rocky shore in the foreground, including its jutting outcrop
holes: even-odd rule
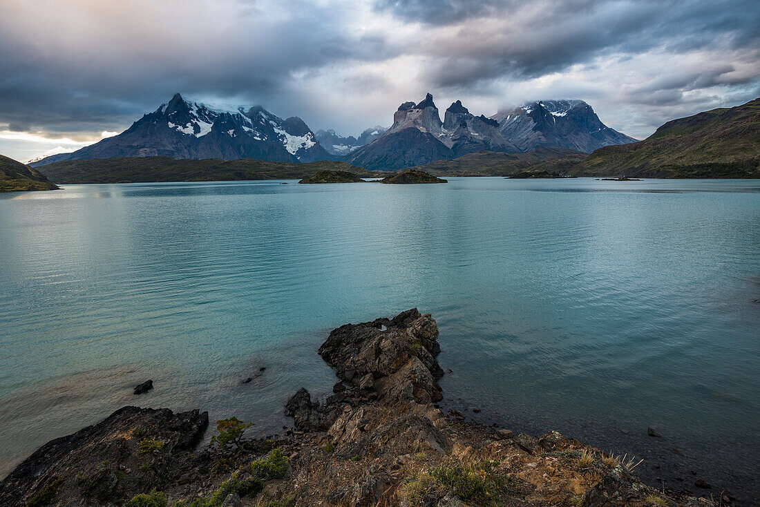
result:
[[[347,324],[319,349],[337,375],[324,402],[299,390],[293,428],[245,439],[207,413],[123,407],[52,440],[0,482],[0,505],[727,505],[654,490],[636,462],[556,432],[535,438],[445,413],[431,315]]]

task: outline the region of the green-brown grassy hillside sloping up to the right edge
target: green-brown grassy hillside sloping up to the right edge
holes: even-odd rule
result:
[[[760,98],[667,122],[644,141],[594,151],[577,176],[760,178]]]

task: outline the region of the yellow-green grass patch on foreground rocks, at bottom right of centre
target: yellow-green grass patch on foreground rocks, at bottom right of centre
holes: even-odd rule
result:
[[[435,467],[413,477],[401,486],[401,495],[410,505],[428,505],[448,493],[462,502],[500,505],[508,478],[496,473],[497,461]]]

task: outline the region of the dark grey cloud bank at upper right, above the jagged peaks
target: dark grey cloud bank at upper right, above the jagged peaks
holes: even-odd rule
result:
[[[401,17],[435,24],[443,21],[432,7],[436,3],[378,5]],[[505,75],[531,78],[599,55],[760,45],[760,8],[754,0],[499,2],[489,5],[489,17],[481,15],[476,2],[448,3],[455,5],[453,11],[464,12],[459,15],[465,21],[442,23],[445,26],[426,40],[429,52],[439,56],[430,69],[433,87],[467,87]]]

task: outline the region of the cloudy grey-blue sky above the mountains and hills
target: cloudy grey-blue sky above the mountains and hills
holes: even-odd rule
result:
[[[0,154],[74,151],[174,93],[312,130],[404,102],[581,99],[645,138],[760,96],[758,0],[2,0]]]

